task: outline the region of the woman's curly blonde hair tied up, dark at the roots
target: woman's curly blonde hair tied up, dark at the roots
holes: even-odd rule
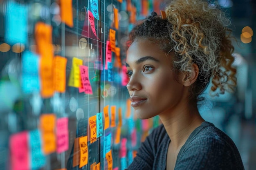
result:
[[[176,54],[173,68],[188,77],[192,65],[197,64],[199,75],[191,87],[191,95],[199,100],[198,96],[210,81],[213,92],[217,89],[218,93],[233,92],[235,89],[230,24],[217,4],[204,0],[173,0],[166,7],[166,19],[153,12],[140,21],[130,32],[127,46],[135,39],[156,42],[166,53]]]

